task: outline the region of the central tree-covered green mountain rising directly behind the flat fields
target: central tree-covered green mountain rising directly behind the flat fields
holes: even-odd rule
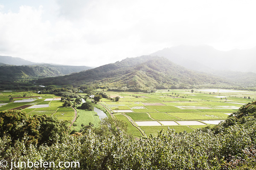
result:
[[[163,57],[142,56],[103,65],[71,75],[38,79],[45,85],[81,85],[93,82],[106,88],[188,88],[193,85],[227,83],[224,79],[190,71]]]

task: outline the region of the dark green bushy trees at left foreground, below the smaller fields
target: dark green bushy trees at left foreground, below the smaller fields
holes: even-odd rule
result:
[[[54,117],[34,115],[20,111],[0,112],[0,137],[11,136],[12,142],[28,136],[27,144],[52,145],[61,140],[68,127]]]

